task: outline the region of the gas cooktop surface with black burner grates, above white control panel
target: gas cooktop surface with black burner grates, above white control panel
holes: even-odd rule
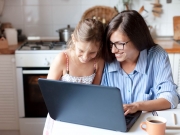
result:
[[[16,51],[52,51],[67,48],[65,42],[59,41],[26,41]]]

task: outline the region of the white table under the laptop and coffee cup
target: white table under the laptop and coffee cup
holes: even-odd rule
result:
[[[177,117],[177,125],[180,126],[180,105],[177,109],[169,109],[164,111],[157,111],[158,116],[165,117],[167,119],[167,125],[173,126],[173,113]],[[53,135],[147,135],[147,133],[139,127],[142,121],[145,121],[145,118],[152,116],[151,112],[143,112],[133,127],[128,132],[117,132],[111,130],[105,130],[100,128],[82,126],[77,124],[70,124],[66,122],[55,121],[52,134]],[[165,135],[180,135],[180,129],[166,129]]]

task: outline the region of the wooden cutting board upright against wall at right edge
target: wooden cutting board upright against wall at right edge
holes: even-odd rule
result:
[[[174,40],[180,40],[180,16],[173,17]]]

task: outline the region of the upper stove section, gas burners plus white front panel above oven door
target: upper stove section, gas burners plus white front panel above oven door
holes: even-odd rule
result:
[[[16,67],[50,67],[57,54],[67,49],[65,42],[27,40],[15,51]]]

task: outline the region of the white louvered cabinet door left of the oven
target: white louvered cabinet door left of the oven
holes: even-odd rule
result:
[[[15,56],[0,55],[0,130],[18,130]]]

